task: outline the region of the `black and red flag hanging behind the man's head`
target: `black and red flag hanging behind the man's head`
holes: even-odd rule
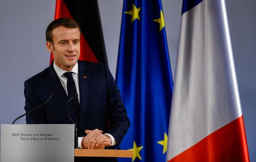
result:
[[[79,59],[108,64],[97,0],[56,0],[54,19],[62,17],[75,20],[81,27]]]

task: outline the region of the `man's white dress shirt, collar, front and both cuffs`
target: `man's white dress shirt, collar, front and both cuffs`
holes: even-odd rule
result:
[[[63,70],[61,68],[59,68],[55,62],[54,62],[54,70],[58,76],[58,78],[61,81],[62,86],[64,87],[66,93],[67,93],[67,77],[65,75],[63,75],[64,73],[68,72],[66,70]],[[70,70],[70,72],[73,72],[73,78],[74,78],[74,84],[75,84],[75,88],[76,88],[76,93],[78,94],[78,102],[80,103],[80,93],[79,93],[79,78],[78,78],[78,63],[76,62],[76,64],[74,65],[74,68]],[[67,94],[68,95],[68,94]],[[109,146],[114,146],[116,144],[115,138],[109,134],[109,133],[105,133],[105,135],[107,135],[108,137],[111,138],[111,145]],[[83,137],[78,137],[78,147],[81,148],[81,142],[82,142],[82,138]]]

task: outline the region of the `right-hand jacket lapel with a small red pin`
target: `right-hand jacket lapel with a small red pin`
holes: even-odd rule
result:
[[[90,73],[82,62],[78,61],[79,93],[80,93],[80,124],[84,123],[85,112],[88,101]]]

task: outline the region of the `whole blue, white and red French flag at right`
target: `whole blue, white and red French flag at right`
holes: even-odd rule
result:
[[[249,162],[225,0],[183,0],[168,162]]]

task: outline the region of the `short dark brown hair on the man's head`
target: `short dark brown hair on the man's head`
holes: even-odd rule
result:
[[[80,26],[74,20],[70,18],[59,18],[59,19],[55,19],[48,25],[47,30],[45,32],[46,41],[49,41],[51,44],[54,43],[53,37],[52,37],[53,30],[60,26],[64,26],[69,29],[78,28],[81,33]]]

